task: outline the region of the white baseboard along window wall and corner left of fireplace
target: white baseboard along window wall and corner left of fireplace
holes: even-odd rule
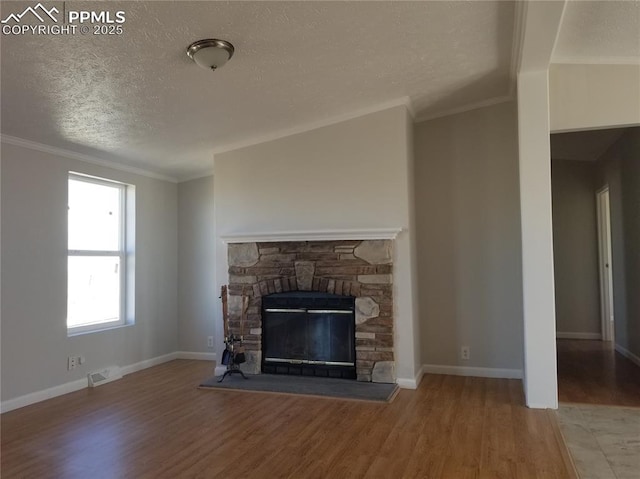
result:
[[[142,371],[143,369],[173,361],[174,359],[202,359],[215,361],[216,354],[175,351],[173,353],[164,354],[155,358],[145,359],[144,361],[140,361],[138,363],[129,364],[128,366],[123,366],[122,368],[120,368],[120,371],[122,372],[123,376],[126,376],[127,374],[135,373],[137,371]],[[19,396],[17,398],[8,399],[0,403],[0,413],[13,411],[14,409],[29,406],[30,404],[35,404],[37,402],[46,401],[47,399],[62,396],[63,394],[79,391],[88,386],[89,383],[87,377],[85,376],[81,379],[76,379],[75,381],[60,384],[59,386],[54,386],[48,389],[43,389],[42,391],[25,394],[24,396]]]

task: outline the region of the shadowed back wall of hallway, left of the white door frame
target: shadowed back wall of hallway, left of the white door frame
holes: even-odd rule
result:
[[[551,162],[556,331],[600,334],[596,164]]]

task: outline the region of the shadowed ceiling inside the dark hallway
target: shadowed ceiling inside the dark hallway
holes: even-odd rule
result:
[[[577,131],[551,135],[552,160],[596,161],[627,128]]]

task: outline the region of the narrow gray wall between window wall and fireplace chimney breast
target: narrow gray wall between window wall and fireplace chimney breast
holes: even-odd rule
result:
[[[178,185],[178,334],[181,351],[209,352],[215,289],[213,176]],[[221,347],[222,345],[216,345]]]

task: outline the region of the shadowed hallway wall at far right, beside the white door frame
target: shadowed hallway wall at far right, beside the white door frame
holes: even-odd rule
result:
[[[598,160],[598,187],[609,185],[615,342],[640,356],[640,127]]]

